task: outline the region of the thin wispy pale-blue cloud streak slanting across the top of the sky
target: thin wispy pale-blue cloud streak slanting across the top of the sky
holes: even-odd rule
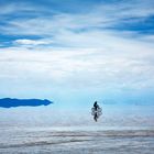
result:
[[[94,8],[87,12],[78,12],[76,14],[64,12],[52,14],[53,10],[51,10],[51,13],[48,12],[46,15],[42,13],[42,15],[33,18],[14,18],[7,21],[8,25],[1,26],[0,30],[7,34],[41,35],[45,37],[52,36],[52,38],[61,36],[64,31],[68,32],[68,35],[76,31],[79,33],[82,33],[82,31],[91,32],[94,30],[106,32],[107,28],[114,28],[116,24],[122,24],[123,22],[133,23],[139,20],[144,21],[145,18],[154,14],[153,6],[153,2],[136,0],[133,4],[132,1],[112,4],[100,3],[99,6],[94,6]],[[46,12],[43,8],[35,8],[36,12],[38,12],[37,9],[42,12]],[[31,13],[33,14],[33,12],[30,12],[30,14]],[[119,33],[121,32],[119,31]]]

